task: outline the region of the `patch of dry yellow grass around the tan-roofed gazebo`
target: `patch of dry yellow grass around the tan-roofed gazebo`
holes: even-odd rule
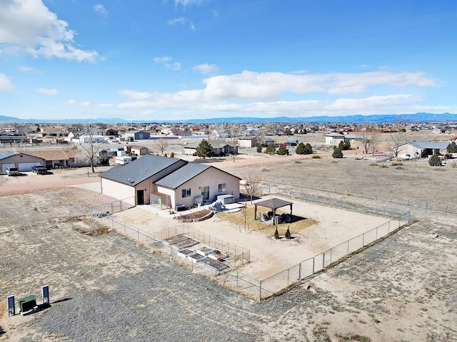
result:
[[[257,216],[260,212],[265,211],[266,208],[257,208]],[[289,212],[282,211],[281,209],[276,210],[276,214],[282,213],[289,214]],[[218,212],[216,215],[221,219],[225,219],[226,221],[236,224],[238,227],[244,227],[244,224],[246,223],[246,227],[249,229],[256,230],[271,236],[273,236],[276,227],[278,227],[278,232],[280,235],[283,235],[286,232],[287,228],[291,234],[294,234],[296,232],[300,232],[306,227],[310,227],[313,224],[317,223],[316,219],[292,215],[290,223],[281,223],[277,226],[273,226],[266,222],[257,221],[254,219],[254,206],[252,204],[246,204],[246,209],[243,208],[239,212]]]

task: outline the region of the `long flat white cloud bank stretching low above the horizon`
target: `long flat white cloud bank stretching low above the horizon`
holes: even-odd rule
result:
[[[194,67],[195,68],[195,67]],[[195,70],[208,71],[209,65]],[[378,113],[416,113],[425,109],[418,105],[422,100],[414,93],[366,95],[371,86],[398,88],[406,86],[436,86],[421,73],[243,73],[214,76],[204,79],[203,89],[180,90],[176,93],[147,93],[122,90],[129,102],[119,103],[118,108],[144,110],[186,110],[188,113],[252,113],[258,115],[371,115]],[[411,90],[411,88],[408,88]],[[386,90],[384,90],[386,91]],[[309,99],[313,93],[330,94],[326,100]],[[303,100],[283,100],[306,95]],[[335,98],[335,95],[345,97]],[[352,96],[348,96],[351,94]],[[287,96],[286,96],[287,95]],[[148,100],[146,100],[148,99]],[[451,108],[442,111],[451,111]],[[437,113],[437,112],[435,112]],[[439,113],[439,112],[438,112]]]

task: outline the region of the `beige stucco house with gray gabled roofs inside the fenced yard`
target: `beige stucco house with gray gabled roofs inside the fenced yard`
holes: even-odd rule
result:
[[[209,165],[178,158],[144,155],[102,172],[101,192],[133,204],[164,204],[176,209],[216,195],[239,197],[239,178]]]

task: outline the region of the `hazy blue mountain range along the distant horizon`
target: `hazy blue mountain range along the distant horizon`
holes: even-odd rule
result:
[[[20,119],[0,115],[0,122],[6,123],[446,123],[457,122],[457,114],[416,113],[391,115],[348,115],[348,116],[313,116],[307,118],[211,118],[187,120],[125,120],[122,118],[87,118],[87,119]]]

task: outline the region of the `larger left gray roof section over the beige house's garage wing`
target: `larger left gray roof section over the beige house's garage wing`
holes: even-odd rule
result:
[[[144,155],[127,165],[115,166],[105,172],[101,172],[100,177],[134,187],[179,161],[181,160],[178,158]]]

